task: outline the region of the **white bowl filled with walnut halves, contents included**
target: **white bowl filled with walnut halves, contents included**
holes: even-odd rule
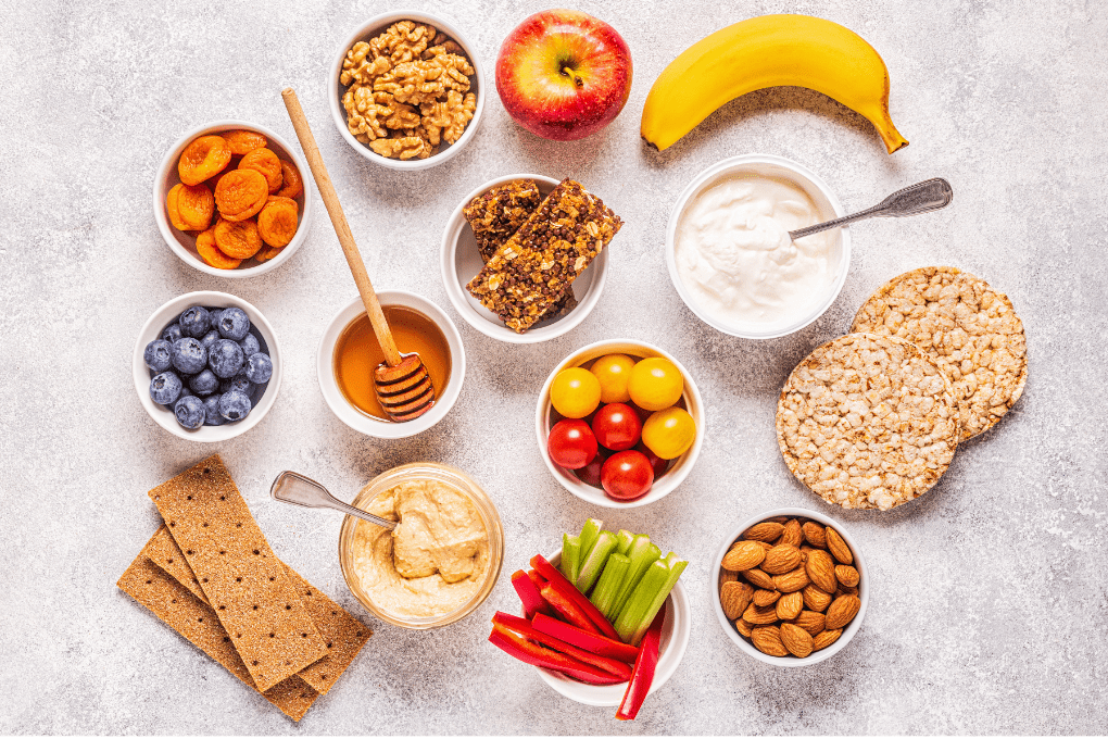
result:
[[[450,22],[414,10],[382,13],[350,34],[330,70],[331,117],[375,164],[423,170],[476,132],[484,74]]]

